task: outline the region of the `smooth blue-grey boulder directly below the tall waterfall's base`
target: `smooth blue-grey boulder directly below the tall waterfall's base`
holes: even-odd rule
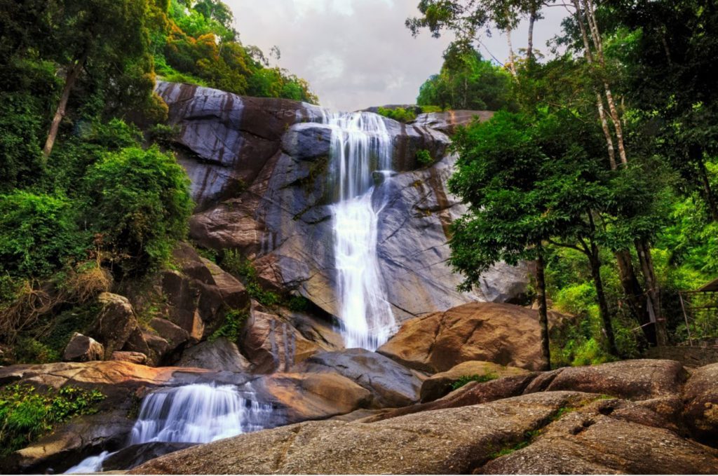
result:
[[[373,394],[373,406],[406,406],[419,399],[421,379],[415,373],[369,350],[317,353],[297,365],[294,371],[344,375]]]

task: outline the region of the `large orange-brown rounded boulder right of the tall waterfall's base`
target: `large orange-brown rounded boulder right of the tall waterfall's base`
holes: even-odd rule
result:
[[[411,319],[378,353],[432,373],[468,360],[538,370],[540,335],[538,311],[474,302]]]

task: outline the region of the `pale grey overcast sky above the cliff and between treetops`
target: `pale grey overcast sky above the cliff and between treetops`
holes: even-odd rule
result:
[[[305,78],[322,106],[353,111],[383,104],[412,104],[419,86],[438,73],[451,37],[427,32],[411,37],[407,17],[419,14],[419,0],[225,0],[240,39],[269,54],[281,51],[279,66]],[[551,8],[536,24],[534,44],[559,31],[566,11]],[[526,47],[526,24],[512,34],[513,47]],[[502,35],[483,37],[482,55],[508,57]],[[488,49],[488,50],[487,50]]]

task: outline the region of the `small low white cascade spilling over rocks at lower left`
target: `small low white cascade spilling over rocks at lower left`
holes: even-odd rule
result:
[[[150,393],[129,445],[149,442],[209,443],[271,426],[272,406],[243,398],[235,386],[195,383]],[[67,473],[98,472],[112,453],[88,457]]]

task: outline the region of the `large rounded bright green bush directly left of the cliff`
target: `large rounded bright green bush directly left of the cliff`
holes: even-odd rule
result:
[[[85,179],[90,228],[102,236],[123,273],[141,273],[169,258],[192,213],[189,179],[157,146],[122,149]]]

